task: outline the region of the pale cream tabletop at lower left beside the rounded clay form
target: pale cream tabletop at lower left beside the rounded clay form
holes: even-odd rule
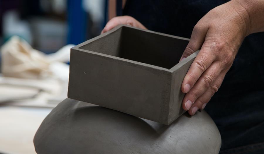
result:
[[[51,110],[0,105],[0,153],[36,153],[33,137]]]

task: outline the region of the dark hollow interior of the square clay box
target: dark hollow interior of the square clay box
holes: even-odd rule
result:
[[[123,26],[79,48],[171,69],[188,42]]]

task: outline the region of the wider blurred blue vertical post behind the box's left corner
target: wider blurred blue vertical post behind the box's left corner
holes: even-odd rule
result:
[[[78,45],[87,38],[87,12],[82,7],[82,0],[68,0],[68,36],[67,44]]]

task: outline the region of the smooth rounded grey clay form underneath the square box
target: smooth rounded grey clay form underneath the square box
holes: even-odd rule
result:
[[[89,103],[65,99],[34,137],[44,153],[218,153],[221,136],[205,111],[159,124]]]

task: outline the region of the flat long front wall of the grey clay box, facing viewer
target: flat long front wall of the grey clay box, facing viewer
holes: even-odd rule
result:
[[[166,124],[171,75],[72,49],[68,97]]]

